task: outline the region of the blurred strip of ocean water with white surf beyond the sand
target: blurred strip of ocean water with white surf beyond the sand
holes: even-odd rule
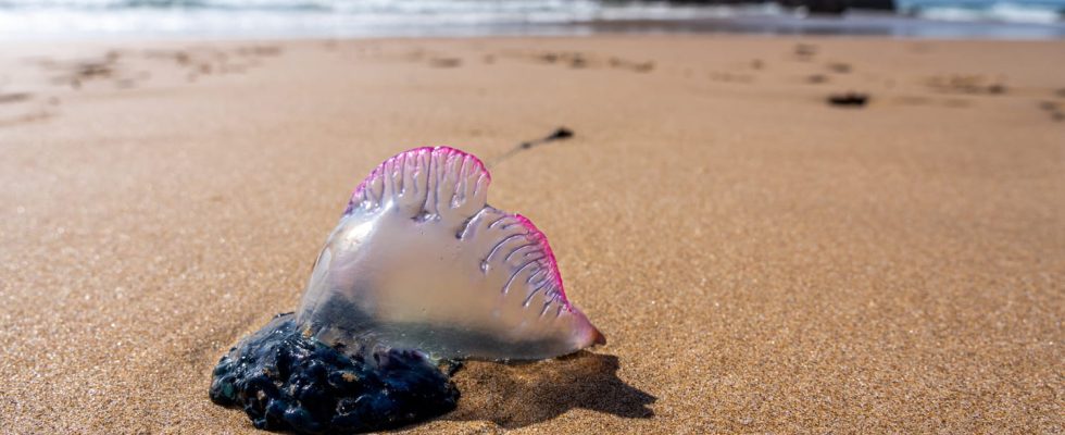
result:
[[[597,0],[0,0],[0,39],[416,37],[629,33],[1065,38],[1065,0],[897,0],[811,16],[776,3]]]

